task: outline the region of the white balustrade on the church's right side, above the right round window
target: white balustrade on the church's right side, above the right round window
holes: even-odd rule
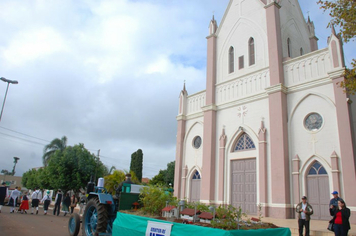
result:
[[[326,48],[286,61],[283,69],[287,87],[324,78],[332,69],[329,51]]]

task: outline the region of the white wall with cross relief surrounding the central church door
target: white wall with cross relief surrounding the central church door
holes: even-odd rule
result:
[[[224,179],[224,203],[230,204],[230,194],[231,194],[231,173],[230,173],[230,161],[233,159],[243,159],[243,158],[256,158],[258,163],[258,131],[261,126],[261,120],[264,120],[264,124],[269,124],[268,115],[268,99],[260,99],[257,101],[252,101],[250,103],[240,104],[226,109],[218,110],[217,112],[217,135],[220,136],[222,129],[225,127],[226,134],[226,149],[225,149],[225,179]],[[243,131],[239,131],[239,127],[243,128]],[[267,127],[268,129],[268,127]],[[253,139],[256,146],[256,150],[244,151],[244,152],[232,152],[234,144],[238,136],[246,132]],[[268,133],[267,133],[268,138]],[[218,145],[219,140],[217,140]],[[269,150],[268,150],[269,153]],[[216,152],[216,163],[219,158],[219,150]],[[218,183],[218,165],[216,165],[216,183]],[[257,164],[257,180],[258,180],[258,164]],[[268,180],[269,182],[270,180]],[[257,181],[257,189],[259,184]],[[218,189],[218,186],[216,186]],[[216,193],[217,199],[218,193]],[[257,199],[259,199],[259,194],[257,192]]]

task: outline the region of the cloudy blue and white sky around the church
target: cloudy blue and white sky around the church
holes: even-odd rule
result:
[[[250,0],[249,0],[250,1]],[[178,96],[205,89],[206,36],[229,0],[1,0],[0,77],[10,84],[0,121],[0,170],[42,166],[66,136],[109,168],[128,170],[142,149],[143,177],[175,159]],[[330,17],[300,0],[327,46]],[[356,58],[345,45],[346,63]],[[0,100],[7,83],[0,81]]]

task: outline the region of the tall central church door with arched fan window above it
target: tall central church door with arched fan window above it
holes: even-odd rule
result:
[[[243,133],[234,145],[234,152],[255,150],[251,137]],[[257,213],[256,159],[231,161],[231,204],[247,214]]]

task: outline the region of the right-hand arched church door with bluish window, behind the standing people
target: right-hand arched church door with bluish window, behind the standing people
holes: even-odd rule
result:
[[[307,197],[309,204],[313,207],[313,219],[329,220],[330,201],[329,176],[325,168],[314,162],[307,175]]]

